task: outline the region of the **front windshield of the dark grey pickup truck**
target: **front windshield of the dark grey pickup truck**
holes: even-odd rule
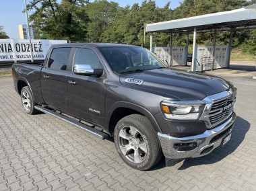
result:
[[[117,73],[166,67],[152,52],[139,46],[108,46],[102,47],[100,50],[111,69]]]

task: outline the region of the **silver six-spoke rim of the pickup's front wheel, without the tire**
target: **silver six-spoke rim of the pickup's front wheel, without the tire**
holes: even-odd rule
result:
[[[119,147],[123,155],[133,163],[141,163],[146,158],[146,143],[141,132],[133,126],[124,126],[119,131]]]

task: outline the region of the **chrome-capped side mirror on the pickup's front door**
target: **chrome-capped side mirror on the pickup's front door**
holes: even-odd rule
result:
[[[75,65],[74,73],[77,75],[101,76],[103,73],[103,69],[92,69],[91,65]]]

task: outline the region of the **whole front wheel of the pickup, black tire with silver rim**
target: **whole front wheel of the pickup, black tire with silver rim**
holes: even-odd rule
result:
[[[150,169],[162,158],[158,136],[145,116],[125,116],[115,126],[114,139],[120,157],[135,169]]]

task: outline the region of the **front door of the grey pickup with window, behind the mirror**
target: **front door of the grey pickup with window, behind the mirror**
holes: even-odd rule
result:
[[[71,63],[102,69],[98,55],[90,48],[76,48]],[[103,126],[106,77],[76,75],[71,68],[72,72],[67,76],[69,113]]]

